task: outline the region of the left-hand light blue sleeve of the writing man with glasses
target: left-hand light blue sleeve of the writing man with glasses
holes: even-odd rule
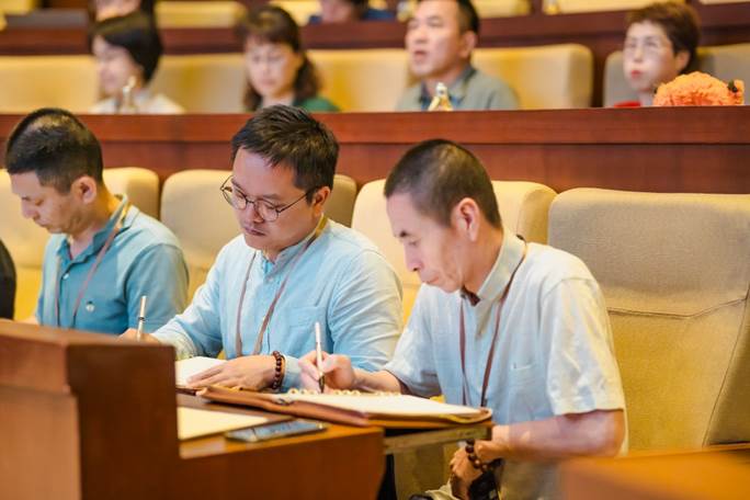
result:
[[[178,360],[193,356],[215,357],[221,351],[220,283],[226,248],[208,271],[206,282],[198,287],[193,302],[181,315],[172,318],[154,333],[160,342],[173,345]]]

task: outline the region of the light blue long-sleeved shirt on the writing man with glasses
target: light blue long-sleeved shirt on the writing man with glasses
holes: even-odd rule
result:
[[[284,249],[275,262],[238,236],[221,249],[188,309],[155,336],[174,345],[178,359],[216,356],[221,349],[227,359],[250,355],[263,317],[288,275],[259,353],[279,351],[286,357],[282,388],[299,386],[297,359],[315,349],[316,321],[325,333],[323,350],[346,354],[363,370],[382,368],[401,330],[401,287],[396,273],[370,240],[332,220],[292,268],[311,236]],[[238,353],[237,311],[243,286],[242,352]]]

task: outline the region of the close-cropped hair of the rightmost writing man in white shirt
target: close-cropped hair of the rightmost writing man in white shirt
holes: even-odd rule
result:
[[[443,226],[451,226],[451,212],[469,197],[493,227],[502,228],[487,170],[468,149],[450,140],[427,140],[404,155],[385,184],[386,197],[398,193],[408,193],[419,213]]]

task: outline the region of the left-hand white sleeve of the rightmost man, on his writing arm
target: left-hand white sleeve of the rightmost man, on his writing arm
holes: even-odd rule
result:
[[[396,353],[384,368],[406,385],[411,394],[422,397],[441,394],[432,355],[435,345],[428,330],[430,312],[440,312],[432,309],[429,288],[423,285],[417,294],[409,321],[398,340]]]

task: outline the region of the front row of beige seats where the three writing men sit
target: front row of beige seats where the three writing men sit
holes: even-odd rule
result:
[[[164,182],[161,219],[180,238],[191,288],[238,235],[218,186],[229,174],[189,170]],[[158,179],[107,169],[105,181],[156,215]],[[493,182],[503,223],[549,242],[591,269],[610,311],[628,405],[630,447],[701,446],[750,439],[750,195],[662,194]],[[329,215],[373,239],[404,281],[410,308],[419,286],[385,216],[383,181],[338,175]],[[201,209],[195,209],[201,207]],[[46,232],[20,215],[0,177],[0,238],[19,270],[19,314],[33,307]]]

